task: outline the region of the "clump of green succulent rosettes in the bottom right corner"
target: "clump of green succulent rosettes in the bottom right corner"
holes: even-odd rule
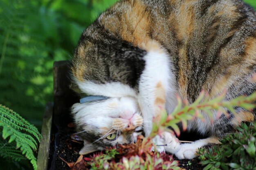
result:
[[[256,122],[242,123],[221,143],[199,149],[203,170],[256,170]]]

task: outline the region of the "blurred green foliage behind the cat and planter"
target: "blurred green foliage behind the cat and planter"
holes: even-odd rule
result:
[[[0,0],[0,104],[40,130],[53,62],[70,60],[82,31],[116,1]]]

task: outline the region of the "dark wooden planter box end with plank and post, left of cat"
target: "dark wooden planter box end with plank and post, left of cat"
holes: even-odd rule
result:
[[[69,169],[62,159],[70,162],[79,157],[76,150],[79,150],[82,144],[72,144],[76,143],[70,138],[74,127],[68,127],[72,122],[70,107],[79,102],[79,97],[70,89],[69,64],[69,61],[54,62],[54,103],[48,103],[45,109],[43,138],[38,150],[38,170]],[[63,140],[66,144],[63,144]]]

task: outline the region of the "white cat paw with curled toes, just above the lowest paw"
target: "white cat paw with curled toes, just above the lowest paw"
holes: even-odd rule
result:
[[[164,143],[166,146],[164,146],[164,150],[169,153],[176,153],[178,150],[180,150],[180,141],[170,132],[163,132],[162,137],[164,139]]]

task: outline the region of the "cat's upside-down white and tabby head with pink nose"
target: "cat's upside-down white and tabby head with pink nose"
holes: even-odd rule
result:
[[[85,144],[80,154],[136,142],[143,131],[143,119],[132,97],[74,104],[72,113]]]

